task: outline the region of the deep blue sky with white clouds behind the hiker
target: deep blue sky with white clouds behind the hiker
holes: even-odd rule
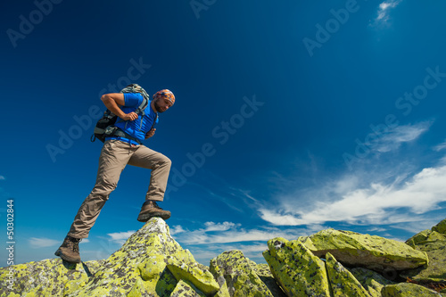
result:
[[[54,258],[95,183],[100,95],[129,81],[177,97],[145,144],[173,162],[161,207],[205,265],[233,249],[265,262],[268,239],[328,227],[404,241],[446,217],[441,1],[3,6],[0,215],[5,231],[13,199],[15,263]],[[83,260],[142,227],[149,177],[123,171]]]

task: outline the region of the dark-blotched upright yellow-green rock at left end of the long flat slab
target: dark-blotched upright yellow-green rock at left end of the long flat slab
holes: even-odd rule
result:
[[[263,257],[287,296],[330,296],[324,261],[300,241],[271,239]]]

